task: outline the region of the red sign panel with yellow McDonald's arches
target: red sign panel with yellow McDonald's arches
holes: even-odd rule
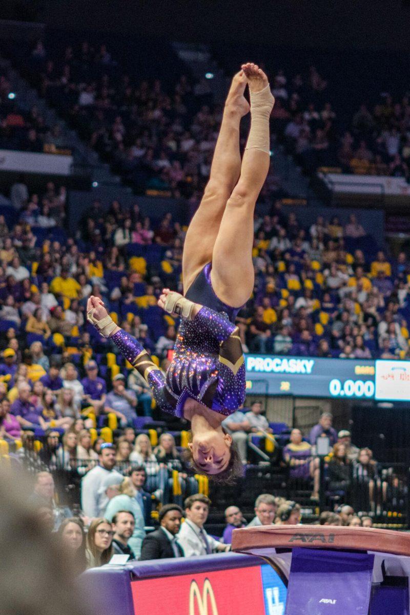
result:
[[[260,566],[144,579],[131,584],[135,615],[262,615]]]

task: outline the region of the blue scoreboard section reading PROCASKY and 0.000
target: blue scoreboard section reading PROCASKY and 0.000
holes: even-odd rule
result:
[[[375,395],[373,360],[247,354],[245,367],[246,388],[258,395],[346,399]]]

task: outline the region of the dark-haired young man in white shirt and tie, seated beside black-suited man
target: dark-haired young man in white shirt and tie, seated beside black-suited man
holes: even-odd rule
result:
[[[185,557],[210,555],[231,549],[230,544],[217,541],[203,529],[203,524],[208,518],[210,504],[210,499],[201,493],[189,496],[184,502],[186,519],[181,525],[177,538]]]

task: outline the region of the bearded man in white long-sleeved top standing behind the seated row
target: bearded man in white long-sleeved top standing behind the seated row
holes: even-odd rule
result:
[[[114,475],[118,483],[122,482],[122,475],[114,470],[116,464],[116,451],[114,445],[104,442],[98,455],[99,466],[93,467],[81,480],[81,508],[87,517],[102,517],[108,504],[106,494],[107,486],[104,480]],[[111,486],[108,485],[108,486]],[[113,494],[114,495],[114,494]]]

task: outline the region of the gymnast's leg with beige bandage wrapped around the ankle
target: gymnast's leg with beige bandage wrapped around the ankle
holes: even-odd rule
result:
[[[251,129],[239,182],[229,198],[216,237],[211,281],[221,301],[246,303],[254,284],[253,212],[269,170],[269,116],[274,106],[266,74],[254,64],[242,66],[251,98]]]

